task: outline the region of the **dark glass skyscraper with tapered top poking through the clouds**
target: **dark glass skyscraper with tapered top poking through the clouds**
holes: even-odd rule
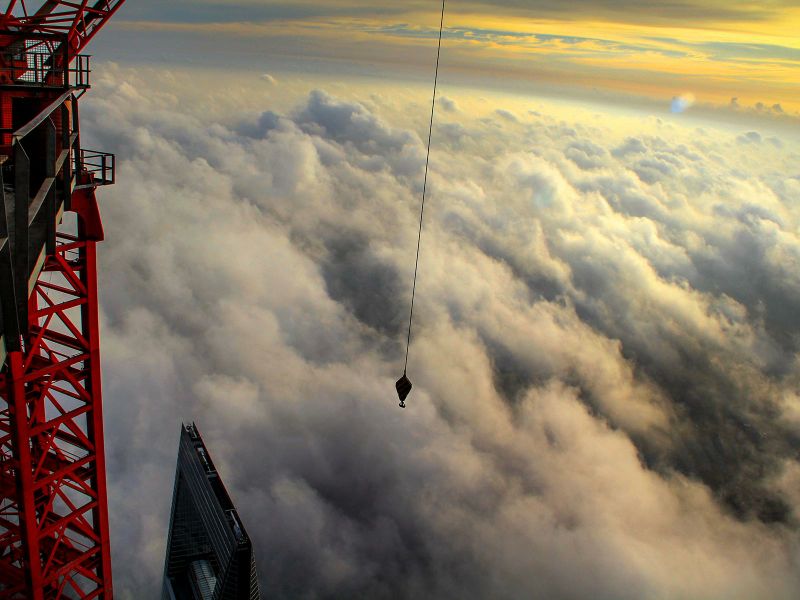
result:
[[[197,427],[183,425],[162,600],[260,600],[253,546]]]

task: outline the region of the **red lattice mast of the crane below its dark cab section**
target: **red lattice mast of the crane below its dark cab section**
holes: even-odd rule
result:
[[[96,242],[83,238],[58,235],[29,346],[0,376],[2,600],[111,598]]]

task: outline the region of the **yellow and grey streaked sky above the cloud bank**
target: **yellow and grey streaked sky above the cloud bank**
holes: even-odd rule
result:
[[[438,9],[419,0],[140,0],[112,25],[106,43],[117,50],[103,55],[427,75]],[[653,100],[691,92],[710,106],[797,117],[799,28],[800,4],[784,1],[451,2],[445,64],[452,80],[483,85]],[[142,39],[159,43],[143,48]]]

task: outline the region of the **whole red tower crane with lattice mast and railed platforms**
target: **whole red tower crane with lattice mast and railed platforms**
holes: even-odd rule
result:
[[[95,189],[80,54],[124,0],[0,13],[0,600],[111,598]]]

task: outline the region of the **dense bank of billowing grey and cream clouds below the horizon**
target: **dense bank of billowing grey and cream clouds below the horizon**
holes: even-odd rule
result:
[[[800,594],[796,141],[449,99],[401,411],[416,108],[314,91],[216,119],[137,77],[83,108],[121,165],[119,597],[158,593],[181,419],[269,597]]]

